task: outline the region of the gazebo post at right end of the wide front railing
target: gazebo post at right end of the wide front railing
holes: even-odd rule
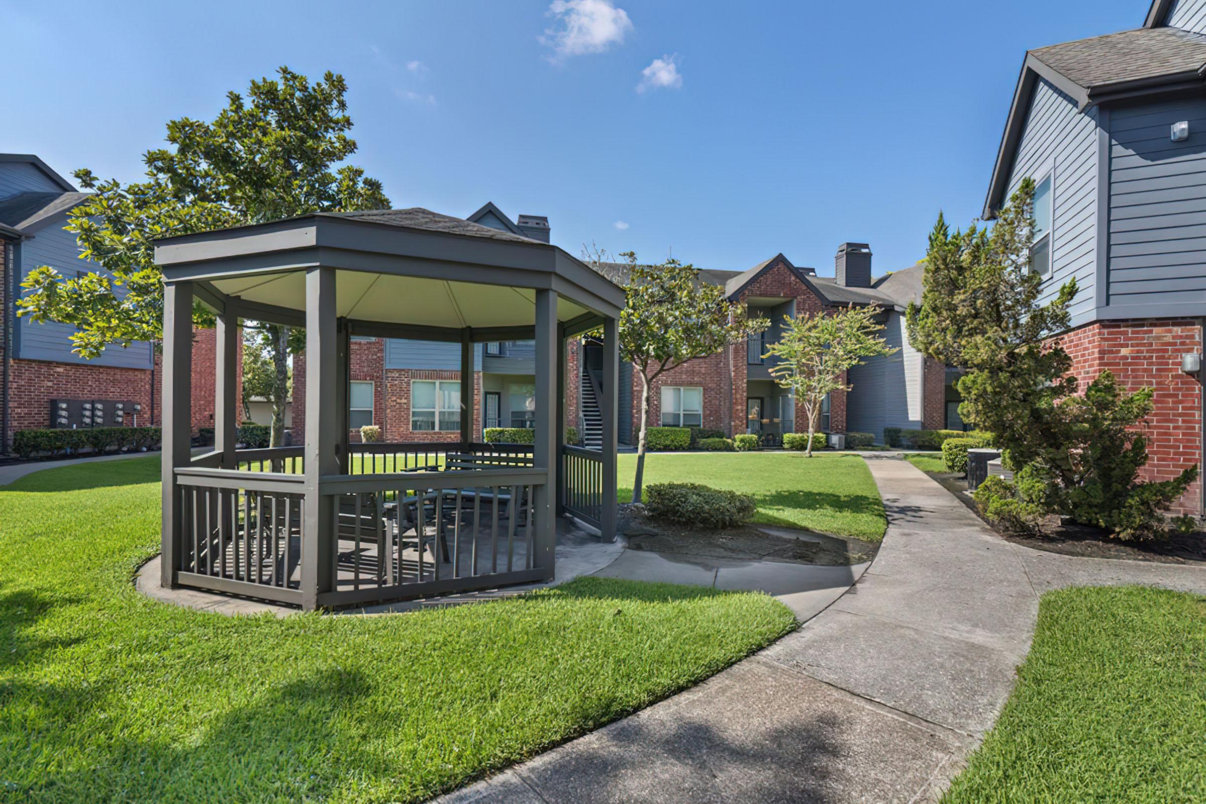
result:
[[[535,518],[534,567],[554,576],[554,548],[557,540],[557,293],[535,292],[535,448],[532,465],[548,473],[535,487],[532,515]],[[531,526],[528,526],[531,527]]]

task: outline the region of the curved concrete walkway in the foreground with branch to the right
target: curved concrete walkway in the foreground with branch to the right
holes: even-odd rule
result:
[[[1012,545],[911,464],[868,465],[888,534],[825,611],[692,689],[441,800],[929,800],[1005,704],[1042,592],[1206,592],[1204,568]]]

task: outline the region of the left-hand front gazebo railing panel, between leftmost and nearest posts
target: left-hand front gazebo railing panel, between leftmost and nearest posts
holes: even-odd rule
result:
[[[181,585],[300,604],[303,475],[187,468],[176,485]]]

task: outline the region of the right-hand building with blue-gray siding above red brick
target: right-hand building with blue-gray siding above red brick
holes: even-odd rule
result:
[[[1137,14],[1136,14],[1137,16]],[[1135,30],[1026,53],[984,205],[1035,182],[1031,270],[1076,277],[1059,340],[1082,387],[1154,389],[1144,475],[1201,464],[1206,319],[1206,0],[1153,0]],[[1175,510],[1202,513],[1202,483]]]

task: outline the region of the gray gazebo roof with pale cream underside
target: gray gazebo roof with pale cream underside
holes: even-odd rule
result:
[[[304,311],[305,271],[317,266],[336,271],[338,316],[415,328],[531,327],[544,288],[557,292],[562,322],[615,318],[625,298],[556,246],[421,207],[168,237],[157,241],[156,262],[165,281],[194,282],[215,306],[236,297],[247,317],[286,323]]]

